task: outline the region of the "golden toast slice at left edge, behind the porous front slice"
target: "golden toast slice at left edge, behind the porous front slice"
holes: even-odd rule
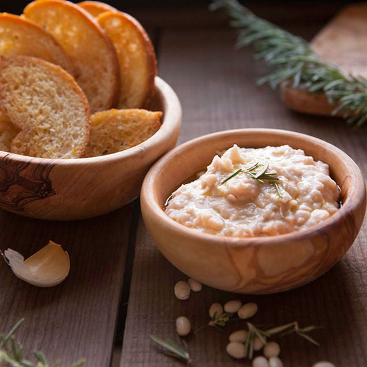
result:
[[[54,36],[32,21],[17,15],[0,13],[0,55],[39,57],[60,65],[77,76],[76,65]]]

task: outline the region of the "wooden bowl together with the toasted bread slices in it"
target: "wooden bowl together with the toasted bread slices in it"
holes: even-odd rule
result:
[[[134,200],[182,115],[144,28],[104,3],[36,0],[0,31],[0,207],[78,220]]]

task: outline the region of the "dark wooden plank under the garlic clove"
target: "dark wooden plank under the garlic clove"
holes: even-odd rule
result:
[[[51,239],[63,244],[71,260],[65,282],[50,289],[18,280],[0,263],[0,330],[10,330],[24,317],[18,339],[27,356],[37,349],[50,362],[61,359],[62,366],[81,357],[87,359],[85,366],[109,366],[134,205],[77,222],[0,211],[2,250],[10,247],[26,258]]]

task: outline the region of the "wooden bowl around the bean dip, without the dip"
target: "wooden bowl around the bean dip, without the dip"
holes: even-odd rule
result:
[[[162,209],[169,195],[209,165],[216,151],[234,143],[240,147],[288,144],[328,163],[342,190],[342,207],[311,229],[255,238],[200,233],[169,218]],[[331,144],[283,130],[239,129],[202,136],[170,151],[145,176],[140,202],[151,237],[180,271],[224,291],[262,294],[311,282],[342,258],[361,227],[366,186],[355,162]]]

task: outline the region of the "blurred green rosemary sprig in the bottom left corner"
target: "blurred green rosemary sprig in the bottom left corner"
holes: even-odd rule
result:
[[[15,324],[7,335],[0,336],[0,366],[5,363],[10,367],[50,367],[45,355],[39,350],[33,350],[33,355],[36,357],[36,364],[23,358],[23,346],[21,343],[15,341],[15,332],[23,323],[24,319],[20,319]],[[80,367],[84,364],[85,359],[80,359],[71,367]],[[58,367],[59,362],[56,361],[53,367]]]

